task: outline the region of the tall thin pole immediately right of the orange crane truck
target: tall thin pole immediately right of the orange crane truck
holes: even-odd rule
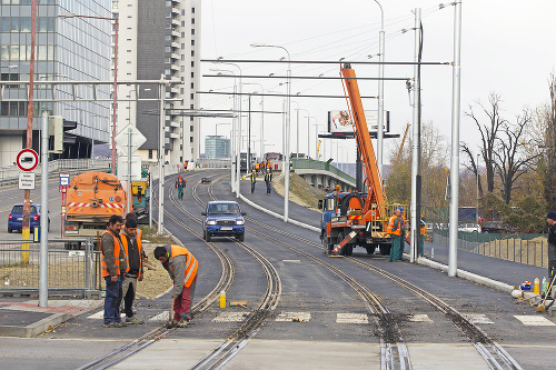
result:
[[[410,261],[417,258],[418,242],[418,214],[417,214],[417,176],[419,174],[419,106],[420,106],[420,82],[419,82],[419,50],[420,50],[420,8],[415,9],[415,67],[414,67],[414,124],[413,124],[413,156],[411,156],[411,249]]]

